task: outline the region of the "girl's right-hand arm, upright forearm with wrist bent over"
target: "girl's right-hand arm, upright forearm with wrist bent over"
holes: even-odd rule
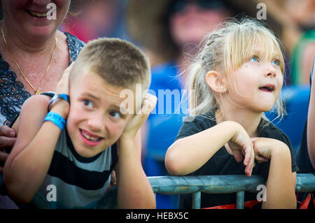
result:
[[[255,153],[270,159],[266,201],[262,208],[296,208],[295,181],[288,146],[273,138],[253,138]]]

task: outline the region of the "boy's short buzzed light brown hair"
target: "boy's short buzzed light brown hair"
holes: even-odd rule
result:
[[[133,89],[141,84],[148,89],[151,71],[148,57],[139,48],[120,38],[98,38],[80,51],[71,70],[71,79],[79,73],[94,72],[107,83]]]

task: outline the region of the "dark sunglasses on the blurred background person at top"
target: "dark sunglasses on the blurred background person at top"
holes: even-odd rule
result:
[[[193,3],[201,9],[216,9],[216,8],[224,8],[224,3],[222,0],[195,0],[195,1],[188,1],[188,0],[178,0],[174,1],[170,7],[171,13],[179,13],[183,11],[188,4]]]

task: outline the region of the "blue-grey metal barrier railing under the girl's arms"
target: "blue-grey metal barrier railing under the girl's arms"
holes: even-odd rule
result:
[[[193,194],[193,208],[200,208],[201,192],[209,194],[236,193],[236,208],[244,208],[244,192],[258,192],[258,185],[264,185],[260,175],[199,175],[199,176],[157,176],[148,177],[153,192],[159,194]],[[314,192],[315,175],[297,174],[296,192]]]

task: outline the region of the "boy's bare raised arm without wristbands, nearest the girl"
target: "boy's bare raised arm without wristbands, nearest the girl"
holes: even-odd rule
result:
[[[148,113],[137,114],[118,140],[118,208],[155,208],[155,196],[141,164],[140,127],[154,108],[156,97],[144,101]]]

